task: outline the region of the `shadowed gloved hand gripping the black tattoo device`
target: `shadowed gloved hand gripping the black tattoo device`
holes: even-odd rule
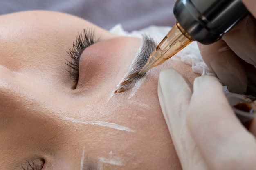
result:
[[[231,92],[256,94],[256,0],[242,1],[252,16],[245,17],[222,40],[211,45],[198,43],[198,47],[205,63]]]

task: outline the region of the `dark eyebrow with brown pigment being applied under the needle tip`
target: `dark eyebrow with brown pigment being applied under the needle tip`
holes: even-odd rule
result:
[[[131,89],[134,87],[135,83],[142,77],[146,75],[145,74],[138,74],[139,71],[142,69],[142,67],[147,63],[148,58],[150,54],[152,53],[153,50],[156,48],[156,43],[148,35],[142,35],[143,41],[142,41],[142,47],[139,51],[139,54],[137,58],[135,59],[135,62],[133,65],[130,67],[132,69],[128,70],[128,76],[126,76],[122,83],[119,84],[117,89],[115,90],[115,93],[122,93],[126,92],[127,90]]]

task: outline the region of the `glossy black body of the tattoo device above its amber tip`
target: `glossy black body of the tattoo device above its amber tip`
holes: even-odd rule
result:
[[[241,0],[177,0],[173,13],[195,41],[207,45],[219,40],[248,11]]]

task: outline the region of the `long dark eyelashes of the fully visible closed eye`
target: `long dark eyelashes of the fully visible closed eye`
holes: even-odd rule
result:
[[[70,78],[74,81],[74,87],[76,88],[79,76],[79,60],[83,51],[93,45],[99,40],[95,40],[95,34],[92,29],[84,29],[82,33],[78,34],[76,37],[76,42],[73,43],[73,48],[67,51],[70,56],[71,61],[67,60],[66,65],[70,67],[68,71],[70,73]]]

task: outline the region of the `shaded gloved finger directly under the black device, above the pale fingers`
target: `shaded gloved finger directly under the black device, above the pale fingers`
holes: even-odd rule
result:
[[[223,40],[210,45],[198,43],[206,65],[215,72],[231,92],[243,94],[247,89],[247,75],[240,59]]]

